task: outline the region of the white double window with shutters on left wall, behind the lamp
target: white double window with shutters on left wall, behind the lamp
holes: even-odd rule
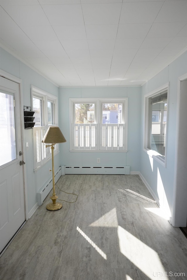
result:
[[[51,149],[46,148],[42,139],[49,126],[57,125],[57,97],[31,86],[32,110],[34,113],[34,169],[41,167],[50,157]],[[55,145],[54,153],[58,150]]]

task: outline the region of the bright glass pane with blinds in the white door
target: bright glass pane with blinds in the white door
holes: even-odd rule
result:
[[[0,166],[17,158],[14,96],[0,92]]]

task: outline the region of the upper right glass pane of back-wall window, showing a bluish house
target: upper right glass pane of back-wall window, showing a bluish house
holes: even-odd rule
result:
[[[122,104],[103,103],[102,104],[102,123],[122,123]]]

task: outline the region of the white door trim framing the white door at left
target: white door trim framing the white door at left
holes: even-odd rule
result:
[[[23,143],[25,143],[25,133],[24,133],[24,112],[23,112],[23,90],[22,90],[22,80],[16,76],[13,76],[7,72],[5,72],[4,70],[0,69],[0,75],[6,79],[9,79],[13,82],[16,82],[19,84],[19,88],[20,88],[20,108],[21,108],[21,112],[20,112],[20,117],[21,117],[21,139],[22,139],[22,151],[23,151],[23,160],[25,161],[25,155],[26,155],[26,150],[25,150],[25,145],[23,145]],[[27,174],[26,174],[26,167],[23,165],[23,189],[24,189],[24,204],[25,204],[25,220],[28,220],[29,218],[29,214],[28,214],[28,199],[27,199]]]

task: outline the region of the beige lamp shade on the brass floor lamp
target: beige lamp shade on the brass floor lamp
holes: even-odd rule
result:
[[[58,126],[50,126],[41,142],[56,144],[66,142],[66,139]]]

